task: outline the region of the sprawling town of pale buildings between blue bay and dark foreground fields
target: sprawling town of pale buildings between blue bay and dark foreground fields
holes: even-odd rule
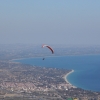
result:
[[[71,72],[70,70],[41,68],[16,62],[8,62],[8,64],[9,66],[7,66],[7,62],[0,62],[2,66],[0,70],[0,80],[2,80],[0,86],[2,88],[14,92],[76,88],[66,80],[66,75]]]

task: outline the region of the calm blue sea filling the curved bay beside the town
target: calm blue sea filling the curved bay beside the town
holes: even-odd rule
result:
[[[100,55],[52,56],[14,60],[24,64],[73,69],[67,80],[76,87],[100,92]]]

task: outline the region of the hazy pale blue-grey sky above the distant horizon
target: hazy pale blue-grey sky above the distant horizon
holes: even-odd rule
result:
[[[0,44],[100,45],[100,0],[0,0]]]

